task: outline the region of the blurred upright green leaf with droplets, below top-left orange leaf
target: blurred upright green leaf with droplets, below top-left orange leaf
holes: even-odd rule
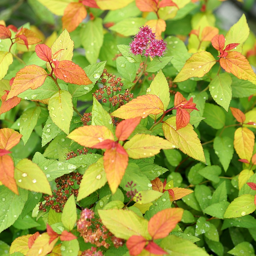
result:
[[[85,57],[90,64],[97,61],[103,43],[102,19],[95,18],[84,24],[80,30],[80,39],[85,49]]]

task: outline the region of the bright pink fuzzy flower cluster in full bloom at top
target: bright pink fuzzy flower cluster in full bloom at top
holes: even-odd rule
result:
[[[152,58],[163,56],[167,49],[166,41],[156,39],[155,33],[152,32],[148,25],[140,27],[140,31],[135,35],[129,46],[134,55],[149,55]]]

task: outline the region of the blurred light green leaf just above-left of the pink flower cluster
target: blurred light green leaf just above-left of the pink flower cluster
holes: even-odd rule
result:
[[[117,22],[109,29],[123,36],[134,36],[139,31],[139,28],[145,24],[145,22],[146,19],[144,18],[127,18]]]

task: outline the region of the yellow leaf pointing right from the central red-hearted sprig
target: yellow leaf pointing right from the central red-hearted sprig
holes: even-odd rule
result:
[[[175,148],[175,145],[163,138],[149,134],[135,134],[124,144],[124,149],[133,159],[154,156],[160,149]]]

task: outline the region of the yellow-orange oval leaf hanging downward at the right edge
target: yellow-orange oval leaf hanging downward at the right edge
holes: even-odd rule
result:
[[[236,153],[241,159],[247,159],[248,161],[252,158],[253,146],[255,136],[254,133],[246,127],[239,127],[236,129],[234,138],[234,148]]]

